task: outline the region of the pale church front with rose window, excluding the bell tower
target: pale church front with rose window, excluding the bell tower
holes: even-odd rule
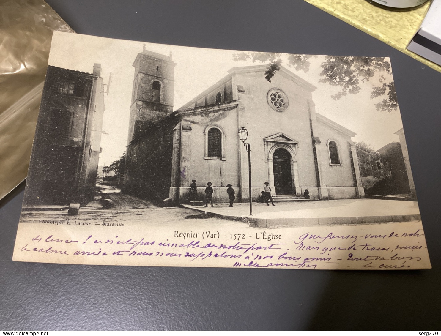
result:
[[[267,82],[265,71],[265,65],[235,67],[174,112],[169,197],[187,202],[195,179],[201,200],[211,182],[214,202],[228,202],[228,183],[236,200],[247,202],[241,127],[248,130],[253,199],[267,181],[273,194],[308,189],[322,200],[364,197],[355,133],[315,112],[313,85],[283,67]]]

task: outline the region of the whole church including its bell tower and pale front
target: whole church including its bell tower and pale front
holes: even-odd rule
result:
[[[148,66],[141,71],[139,63]],[[228,183],[235,189],[236,202],[248,202],[248,153],[239,139],[245,127],[253,200],[265,182],[278,195],[302,195],[308,189],[311,198],[321,200],[364,197],[351,141],[355,133],[315,112],[316,87],[303,78],[280,67],[268,82],[266,65],[234,67],[171,112],[174,66],[171,58],[147,51],[135,60],[127,160],[137,162],[126,164],[125,176],[128,185],[136,180],[132,190],[147,190],[158,183],[153,180],[169,174],[169,198],[175,203],[189,202],[192,180],[197,181],[200,200],[211,182],[213,202],[228,202]],[[142,165],[141,175],[147,170],[148,181],[134,172]]]

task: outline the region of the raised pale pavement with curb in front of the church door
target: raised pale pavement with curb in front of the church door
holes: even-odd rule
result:
[[[318,202],[278,202],[276,206],[253,203],[216,204],[213,208],[184,205],[224,218],[244,217],[250,225],[261,228],[300,227],[335,224],[367,224],[421,220],[417,202],[379,199],[347,199]]]

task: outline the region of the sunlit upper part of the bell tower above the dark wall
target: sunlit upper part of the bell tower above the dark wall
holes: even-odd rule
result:
[[[170,56],[146,50],[136,56],[127,145],[173,112],[174,69]]]

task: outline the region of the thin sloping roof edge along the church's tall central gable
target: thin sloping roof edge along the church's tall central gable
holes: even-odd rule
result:
[[[196,97],[194,97],[191,101],[187,102],[186,104],[182,105],[178,110],[182,110],[185,108],[188,108],[190,105],[194,104],[196,101],[202,99],[207,94],[212,92],[214,89],[216,89],[219,86],[222,86],[224,83],[231,80],[233,75],[235,74],[243,74],[243,73],[252,73],[252,72],[262,72],[262,78],[263,73],[268,70],[268,65],[262,64],[262,65],[253,65],[248,67],[232,67],[230,70],[228,70],[228,75],[226,75],[224,78],[221,78],[219,81],[217,81],[215,84],[210,86],[208,89],[204,90],[202,93],[199,93]],[[288,77],[291,79],[295,84],[305,88],[309,91],[314,91],[317,89],[314,85],[310,84],[309,82],[306,82],[304,79],[300,78],[299,76],[293,74],[291,71],[286,69],[285,67],[280,66],[280,70],[278,71],[280,74]]]

